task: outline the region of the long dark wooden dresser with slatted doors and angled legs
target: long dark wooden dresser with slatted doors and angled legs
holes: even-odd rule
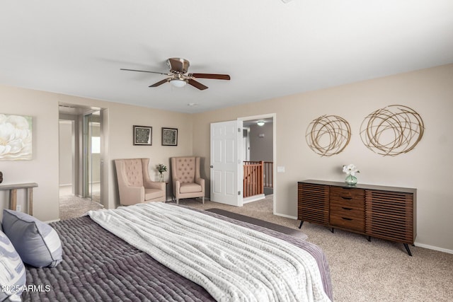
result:
[[[417,235],[417,190],[345,182],[297,183],[297,219],[403,243],[408,255]]]

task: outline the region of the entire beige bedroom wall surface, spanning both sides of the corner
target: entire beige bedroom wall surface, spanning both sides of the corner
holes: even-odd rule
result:
[[[201,156],[202,176],[209,184],[210,123],[275,113],[276,165],[285,166],[285,173],[276,175],[277,214],[297,216],[298,180],[343,181],[341,166],[354,163],[361,171],[359,182],[416,187],[416,242],[452,252],[452,100],[453,64],[196,115],[0,86],[1,113],[33,116],[33,161],[0,161],[0,170],[5,182],[38,182],[35,216],[49,221],[58,218],[58,102],[97,106],[108,112],[109,207],[118,204],[114,158],[149,157],[151,165],[168,165],[171,156]],[[360,124],[370,112],[394,104],[419,112],[425,135],[409,153],[379,156],[362,144]],[[350,122],[350,144],[337,156],[321,157],[306,145],[306,127],[320,115],[340,115]],[[153,127],[153,146],[132,146],[134,124]],[[177,147],[161,146],[161,127],[179,129]],[[7,203],[3,192],[1,203]]]

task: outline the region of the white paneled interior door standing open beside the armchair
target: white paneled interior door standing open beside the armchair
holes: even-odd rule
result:
[[[242,121],[211,124],[211,197],[213,202],[242,206],[239,134]]]

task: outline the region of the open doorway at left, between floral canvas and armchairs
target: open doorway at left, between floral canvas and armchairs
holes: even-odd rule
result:
[[[59,185],[62,200],[108,207],[104,144],[107,110],[59,104]]]

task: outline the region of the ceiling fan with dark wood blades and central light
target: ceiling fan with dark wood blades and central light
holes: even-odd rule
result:
[[[228,74],[187,74],[190,63],[186,59],[181,58],[170,58],[167,59],[167,66],[170,69],[169,73],[159,72],[159,71],[147,71],[147,70],[137,70],[137,69],[120,69],[125,71],[139,71],[139,72],[149,72],[151,74],[164,74],[169,76],[168,78],[152,84],[149,87],[161,86],[163,83],[170,82],[173,86],[183,87],[185,84],[189,84],[198,88],[200,90],[207,89],[207,86],[202,83],[195,81],[195,79],[217,79],[217,80],[229,80],[230,77]]]

